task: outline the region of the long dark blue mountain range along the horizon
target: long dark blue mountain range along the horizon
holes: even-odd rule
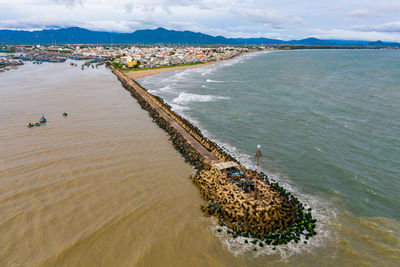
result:
[[[174,31],[164,28],[138,30],[132,33],[90,31],[78,27],[42,30],[0,30],[0,44],[187,44],[187,45],[312,45],[312,46],[376,46],[400,47],[400,43],[382,41],[346,41],[306,38],[282,41],[268,38],[225,38],[192,31]]]

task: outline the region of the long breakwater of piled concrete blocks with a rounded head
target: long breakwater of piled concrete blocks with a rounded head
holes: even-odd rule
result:
[[[317,234],[311,208],[306,209],[264,173],[243,166],[203,136],[200,129],[173,112],[162,98],[149,93],[121,71],[112,68],[112,72],[149,112],[153,122],[169,134],[185,161],[195,168],[191,178],[207,202],[201,209],[207,216],[215,216],[220,226],[227,226],[228,234],[253,238],[250,242],[260,247],[307,243]]]

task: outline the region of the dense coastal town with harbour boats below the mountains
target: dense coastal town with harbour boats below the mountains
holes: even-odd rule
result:
[[[243,53],[263,51],[264,46],[93,46],[17,45],[0,47],[0,71],[30,61],[61,63],[84,60],[82,69],[102,64],[123,70],[139,70],[201,64],[233,58]],[[271,48],[268,48],[271,49]]]

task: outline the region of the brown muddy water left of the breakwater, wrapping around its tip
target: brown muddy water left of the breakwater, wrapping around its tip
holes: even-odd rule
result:
[[[42,114],[47,124],[25,126]],[[218,233],[200,211],[192,167],[104,68],[28,63],[0,74],[0,152],[0,266],[400,260],[399,225],[383,218],[325,211],[313,242],[276,250]]]

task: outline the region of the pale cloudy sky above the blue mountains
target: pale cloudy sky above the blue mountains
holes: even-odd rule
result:
[[[0,0],[0,29],[72,26],[400,42],[400,0]]]

